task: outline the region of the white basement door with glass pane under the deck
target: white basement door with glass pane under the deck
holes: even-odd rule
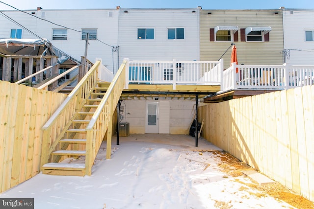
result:
[[[158,102],[146,102],[146,125],[145,133],[158,134],[159,133],[159,108]]]

